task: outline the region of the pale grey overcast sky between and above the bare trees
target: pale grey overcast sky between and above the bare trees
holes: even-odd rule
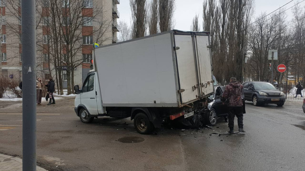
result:
[[[282,5],[285,5],[291,0],[255,0],[255,16],[259,15],[261,12],[270,13],[275,9],[278,9]],[[289,8],[298,2],[294,0],[286,5]],[[176,0],[177,9],[175,11],[174,18],[176,20],[175,29],[178,30],[190,30],[193,17],[199,14],[200,25],[202,25],[202,4],[203,0]],[[305,5],[305,1],[300,3],[301,6]],[[120,0],[118,5],[118,10],[120,12],[120,19],[125,20],[130,24],[131,10],[129,6],[129,0]],[[291,9],[287,10],[288,18],[291,18]],[[253,19],[254,20],[254,19]]]

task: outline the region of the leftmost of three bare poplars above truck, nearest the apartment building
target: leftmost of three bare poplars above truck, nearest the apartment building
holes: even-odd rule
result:
[[[145,36],[147,29],[147,3],[146,0],[129,0],[132,16],[132,37]]]

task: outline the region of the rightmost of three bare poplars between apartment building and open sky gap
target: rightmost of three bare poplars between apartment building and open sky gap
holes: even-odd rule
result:
[[[174,26],[174,12],[176,9],[175,0],[159,1],[159,25],[160,31],[171,30]]]

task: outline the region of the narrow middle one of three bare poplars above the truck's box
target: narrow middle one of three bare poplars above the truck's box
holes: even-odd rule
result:
[[[159,0],[152,0],[149,8],[149,34],[158,33],[158,21],[159,21]]]

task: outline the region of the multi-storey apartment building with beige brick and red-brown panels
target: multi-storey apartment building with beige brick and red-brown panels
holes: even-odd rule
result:
[[[77,7],[81,4],[80,1],[83,5]],[[52,8],[54,2],[59,2],[60,4],[57,5],[60,7]],[[66,64],[69,61],[73,63],[71,68],[73,68],[74,84],[81,85],[90,70],[93,44],[99,43],[101,46],[117,42],[117,32],[120,30],[117,24],[120,16],[117,5],[120,4],[120,0],[61,0],[61,2],[60,0],[37,0],[36,4],[37,76],[47,79],[51,75],[55,78],[60,69],[62,80],[59,81],[62,81],[65,89],[67,87]],[[2,24],[0,73],[21,80],[22,60],[26,60],[27,57],[23,57],[21,51],[20,0],[1,0],[0,5]],[[52,15],[55,13],[54,9],[59,9],[62,13],[59,19]],[[78,11],[81,11],[80,14],[77,14]],[[75,26],[75,23],[81,26]],[[72,30],[74,27],[75,30]],[[54,30],[57,30],[57,34]],[[58,32],[62,33],[58,34]],[[78,37],[72,39],[70,36],[68,40],[63,36],[71,32],[75,32],[73,36]],[[73,43],[69,43],[71,41]]]

